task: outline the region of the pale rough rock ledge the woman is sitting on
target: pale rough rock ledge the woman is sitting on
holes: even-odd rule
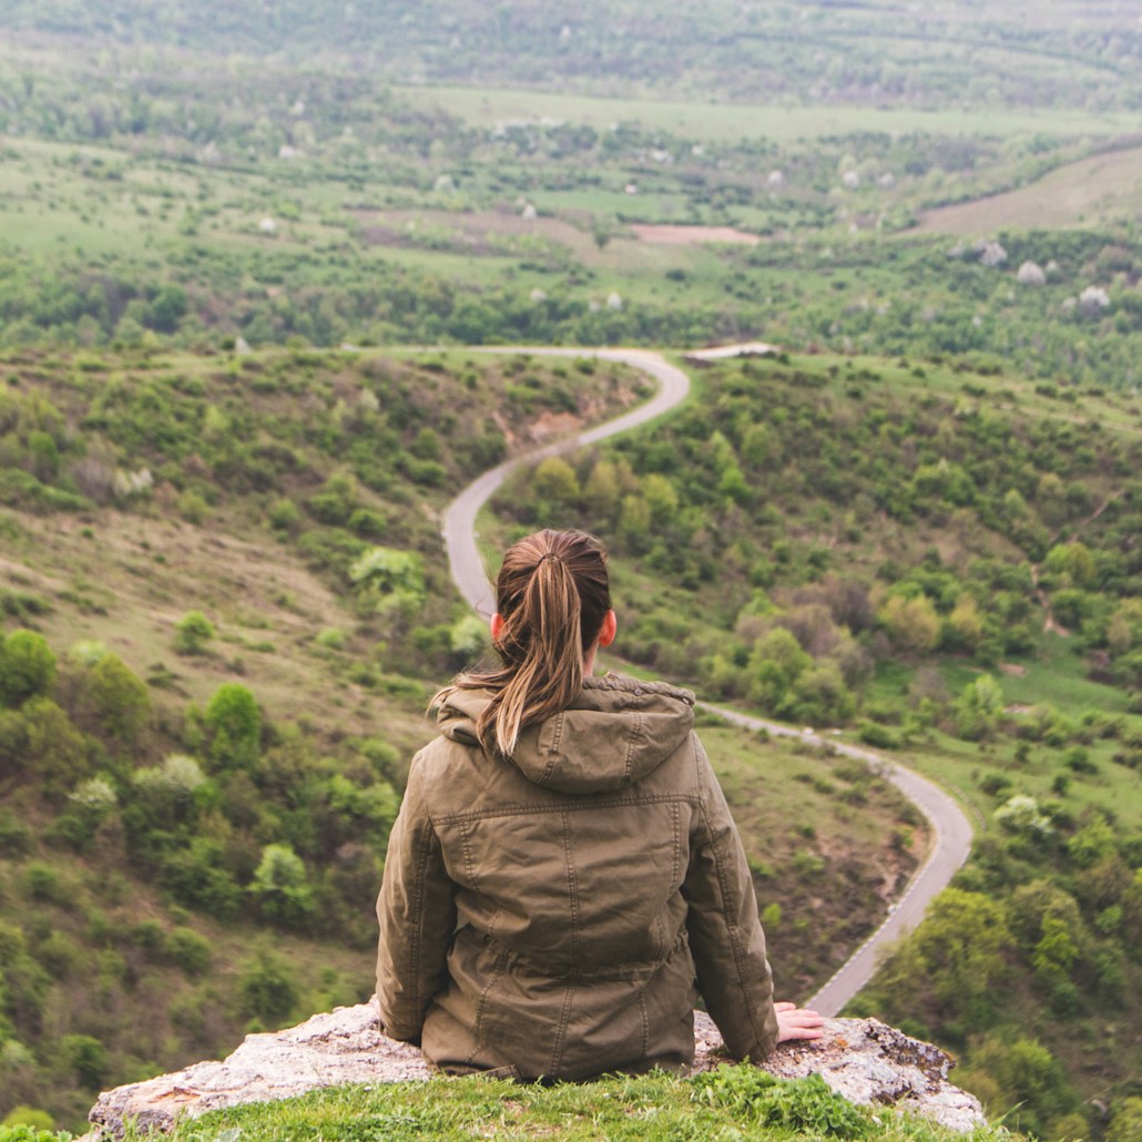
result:
[[[694,1040],[695,1071],[725,1061],[717,1028],[701,1012],[694,1013]],[[782,1044],[765,1069],[779,1078],[817,1072],[853,1102],[912,1110],[966,1132],[984,1117],[975,1097],[948,1081],[952,1065],[939,1047],[875,1019],[830,1019],[823,1038]],[[128,1119],[167,1131],[182,1115],[290,1099],[346,1083],[401,1083],[431,1073],[419,1051],[377,1030],[371,1004],[338,1007],[284,1031],[247,1036],[222,1062],[194,1063],[100,1094],[89,1116],[94,1129],[80,1142],[121,1134]]]

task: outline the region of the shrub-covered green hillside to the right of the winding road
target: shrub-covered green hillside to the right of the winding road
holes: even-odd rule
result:
[[[1139,1093],[1140,459],[1132,397],[789,356],[703,371],[653,436],[544,460],[493,505],[504,538],[608,540],[637,662],[962,796],[967,868],[853,1010],[947,1044],[1046,1137]]]

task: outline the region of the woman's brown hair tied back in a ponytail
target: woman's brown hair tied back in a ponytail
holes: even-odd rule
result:
[[[461,674],[433,702],[453,687],[492,691],[476,734],[489,753],[510,757],[525,725],[566,709],[582,690],[582,656],[611,609],[603,545],[585,531],[521,539],[504,555],[496,605],[502,665]]]

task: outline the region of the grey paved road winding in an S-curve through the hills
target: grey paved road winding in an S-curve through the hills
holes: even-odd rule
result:
[[[534,464],[545,457],[570,452],[608,436],[614,436],[618,433],[648,424],[676,408],[685,399],[690,392],[690,378],[681,369],[667,362],[661,354],[650,351],[505,347],[485,352],[531,353],[537,356],[596,356],[642,369],[659,383],[658,392],[645,404],[587,432],[545,444],[514,459],[506,460],[474,480],[449,504],[444,512],[442,532],[448,546],[452,578],[468,605],[478,614],[489,617],[494,610],[494,593],[484,571],[476,541],[476,516],[510,472],[521,464]],[[843,742],[827,742],[811,731],[794,730],[721,706],[700,705],[703,709],[717,714],[734,725],[754,731],[765,730],[781,737],[799,738],[803,741],[821,746],[828,745],[838,754],[868,762],[879,775],[900,789],[928,821],[932,830],[932,844],[924,863],[909,880],[903,895],[891,906],[887,918],[876,932],[805,1004],[822,1015],[836,1015],[871,979],[876,968],[877,952],[919,924],[928,902],[941,888],[948,885],[956,870],[967,860],[972,844],[971,823],[956,801],[939,786],[895,762],[887,761],[879,754]]]

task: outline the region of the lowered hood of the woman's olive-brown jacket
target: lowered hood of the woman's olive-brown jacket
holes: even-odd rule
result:
[[[486,690],[452,690],[436,714],[441,733],[478,746],[476,719]],[[584,679],[571,705],[520,733],[510,761],[530,781],[556,793],[612,793],[646,777],[694,724],[694,695],[665,682],[617,674]]]

